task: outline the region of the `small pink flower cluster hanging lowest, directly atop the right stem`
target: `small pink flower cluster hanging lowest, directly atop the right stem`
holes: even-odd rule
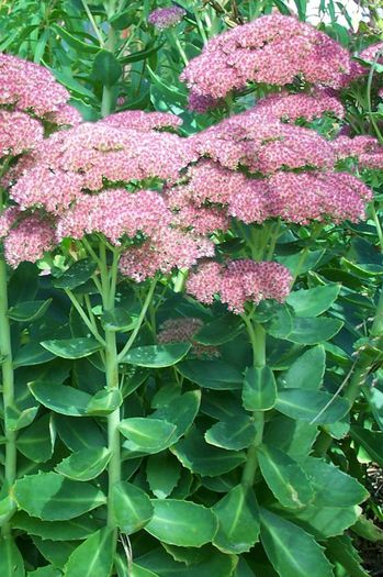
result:
[[[264,299],[283,302],[289,296],[292,276],[288,268],[274,262],[255,263],[250,259],[201,264],[188,279],[187,291],[201,302],[211,304],[219,295],[221,301],[236,314],[245,311],[246,302],[258,304]]]

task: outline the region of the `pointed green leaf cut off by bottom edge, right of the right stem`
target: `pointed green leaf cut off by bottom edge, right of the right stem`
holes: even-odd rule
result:
[[[262,545],[281,577],[334,577],[323,548],[303,529],[266,509],[260,520]]]

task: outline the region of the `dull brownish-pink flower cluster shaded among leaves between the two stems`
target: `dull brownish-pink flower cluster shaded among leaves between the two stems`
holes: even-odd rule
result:
[[[160,325],[157,340],[160,344],[192,343],[192,353],[198,357],[219,356],[219,351],[215,346],[202,345],[193,339],[203,324],[201,319],[190,317],[168,319]]]

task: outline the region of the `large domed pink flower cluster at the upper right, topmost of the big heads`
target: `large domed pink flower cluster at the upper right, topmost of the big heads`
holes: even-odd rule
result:
[[[181,79],[192,95],[219,99],[249,81],[284,86],[301,77],[337,88],[349,70],[350,56],[340,44],[295,18],[273,13],[212,38]]]

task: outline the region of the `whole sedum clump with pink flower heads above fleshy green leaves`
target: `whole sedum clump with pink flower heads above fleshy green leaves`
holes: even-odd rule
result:
[[[342,289],[307,275],[372,198],[343,160],[357,141],[328,129],[351,67],[272,14],[187,66],[190,107],[230,113],[188,138],[170,114],[111,114],[108,75],[104,118],[45,140],[44,91],[24,102],[19,80],[4,101],[3,125],[33,111],[3,175],[4,257],[14,276],[37,262],[53,299],[3,301],[22,455],[4,458],[5,576],[367,575],[346,531],[368,492],[326,457],[358,393],[331,380]],[[29,363],[3,348],[12,315]]]

